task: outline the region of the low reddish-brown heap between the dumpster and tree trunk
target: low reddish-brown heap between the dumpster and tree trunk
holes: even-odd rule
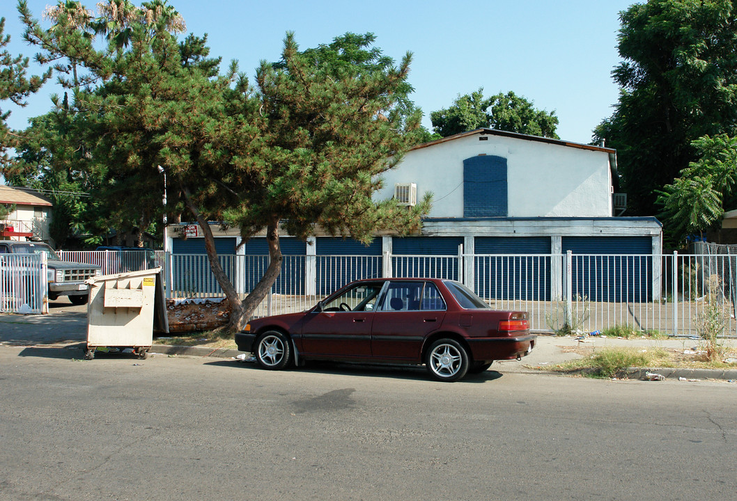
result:
[[[228,299],[167,299],[170,333],[213,330],[230,319]]]

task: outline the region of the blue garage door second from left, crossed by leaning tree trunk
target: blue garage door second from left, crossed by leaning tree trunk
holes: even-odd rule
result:
[[[279,238],[282,249],[282,272],[272,290],[275,294],[304,294],[304,255],[307,244],[298,238]],[[243,244],[245,254],[244,291],[250,292],[259,283],[269,266],[269,244],[265,237],[250,238]]]

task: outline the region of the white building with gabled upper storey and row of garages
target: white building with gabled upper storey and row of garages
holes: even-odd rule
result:
[[[282,252],[308,257],[391,255],[395,256],[392,263],[400,263],[402,256],[464,255],[466,283],[481,280],[483,270],[476,264],[480,263],[476,255],[548,256],[540,260],[542,268],[525,280],[537,284],[544,279],[544,290],[535,295],[556,297],[562,290],[562,273],[560,261],[551,255],[570,251],[652,256],[662,250],[662,226],[656,218],[616,216],[624,211],[624,197],[615,193],[616,168],[615,150],[601,146],[495,129],[464,132],[415,146],[397,168],[384,174],[383,188],[375,194],[377,200],[394,196],[412,205],[432,192],[432,208],[418,235],[377,235],[369,246],[319,234],[309,244],[287,237],[281,239]],[[184,234],[184,226],[171,228],[169,248],[182,254],[204,252],[201,232],[193,225],[187,227],[189,238],[177,236]],[[251,238],[240,246],[237,231],[214,233],[219,253],[268,254],[265,238]],[[646,283],[637,287],[647,290],[646,296],[652,299],[660,294],[660,262],[650,261],[642,265]],[[598,262],[604,273],[608,258]],[[368,274],[386,272],[377,269]],[[509,270],[486,266],[483,272],[503,279]],[[313,290],[312,282],[308,276],[307,291]],[[588,291],[585,284],[580,290],[589,297],[604,294]]]

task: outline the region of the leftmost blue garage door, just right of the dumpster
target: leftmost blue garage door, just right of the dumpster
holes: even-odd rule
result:
[[[215,238],[215,250],[220,266],[231,283],[236,275],[235,238]],[[205,250],[204,238],[175,238],[172,240],[173,290],[184,296],[222,295],[223,289],[215,280]]]

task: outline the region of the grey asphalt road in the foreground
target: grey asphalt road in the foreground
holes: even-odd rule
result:
[[[737,387],[0,346],[0,500],[727,500]],[[493,369],[493,367],[492,367]]]

